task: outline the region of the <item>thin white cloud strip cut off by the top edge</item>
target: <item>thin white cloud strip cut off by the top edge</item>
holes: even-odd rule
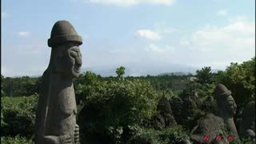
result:
[[[89,2],[114,6],[134,6],[142,3],[166,6],[174,4],[174,0],[89,0]]]

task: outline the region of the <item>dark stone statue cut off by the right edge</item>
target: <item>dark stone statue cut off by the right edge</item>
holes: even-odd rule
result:
[[[242,110],[240,136],[255,142],[255,102],[248,103]]]

